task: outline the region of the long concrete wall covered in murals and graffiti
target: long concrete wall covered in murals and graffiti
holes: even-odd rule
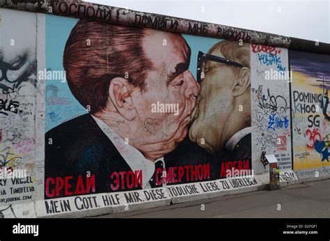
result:
[[[49,13],[13,2],[4,6]],[[80,3],[56,4],[81,17]],[[116,11],[84,9],[102,21],[0,8],[0,162],[12,175],[0,179],[0,215],[84,217],[249,192],[269,184],[265,155],[281,185],[329,176],[329,55],[283,36],[159,19],[173,33],[155,30],[157,16],[117,18],[123,26]]]

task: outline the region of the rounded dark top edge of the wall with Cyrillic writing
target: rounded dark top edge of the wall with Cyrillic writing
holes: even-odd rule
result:
[[[330,54],[330,44],[301,38],[281,36],[233,26],[213,24],[180,17],[106,6],[87,1],[72,0],[0,0],[0,8],[23,10],[32,13],[45,13],[83,20],[119,24],[125,26],[147,27],[161,31],[186,33],[210,38],[236,40],[258,45],[284,47],[288,49]]]

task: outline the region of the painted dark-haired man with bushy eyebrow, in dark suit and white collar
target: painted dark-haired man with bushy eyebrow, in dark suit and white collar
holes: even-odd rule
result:
[[[178,33],[80,20],[63,66],[72,94],[90,113],[46,133],[45,198],[72,195],[54,191],[56,178],[61,186],[63,177],[86,173],[95,175],[98,193],[162,187],[155,166],[165,168],[164,155],[186,137],[200,91],[189,61]],[[152,111],[156,103],[168,109]],[[132,185],[129,173],[140,172]]]

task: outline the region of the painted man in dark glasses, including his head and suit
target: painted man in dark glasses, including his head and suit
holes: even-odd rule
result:
[[[250,45],[223,40],[198,54],[201,94],[189,130],[211,154],[214,178],[251,168]],[[201,75],[201,77],[199,77]]]

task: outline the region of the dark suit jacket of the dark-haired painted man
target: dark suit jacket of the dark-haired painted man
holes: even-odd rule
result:
[[[116,147],[102,132],[90,114],[84,114],[54,127],[45,136],[45,180],[47,178],[78,176],[87,172],[95,175],[95,193],[114,192],[111,173],[131,171]],[[46,184],[46,183],[45,183]],[[75,188],[72,184],[72,189]],[[46,187],[45,187],[46,188]],[[116,192],[141,189],[134,187]],[[64,196],[61,192],[60,196]],[[45,199],[48,197],[45,194]]]

